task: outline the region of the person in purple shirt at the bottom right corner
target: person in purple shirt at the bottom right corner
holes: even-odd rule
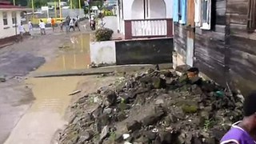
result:
[[[256,91],[246,97],[243,112],[242,121],[232,125],[221,144],[256,144]]]

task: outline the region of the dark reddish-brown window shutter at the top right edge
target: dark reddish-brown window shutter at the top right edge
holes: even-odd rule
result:
[[[248,9],[248,20],[247,20],[247,30],[253,32],[255,30],[255,0],[248,1],[249,9]]]

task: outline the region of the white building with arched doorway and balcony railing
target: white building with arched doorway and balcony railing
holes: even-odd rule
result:
[[[173,36],[173,0],[118,0],[118,30],[130,38]]]

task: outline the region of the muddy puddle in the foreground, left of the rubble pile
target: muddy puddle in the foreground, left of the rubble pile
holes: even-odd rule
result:
[[[15,126],[5,144],[50,144],[56,130],[66,124],[63,119],[70,104],[69,96],[84,77],[31,78],[36,100]]]

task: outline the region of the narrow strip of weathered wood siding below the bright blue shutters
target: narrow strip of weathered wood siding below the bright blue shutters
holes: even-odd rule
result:
[[[182,55],[186,62],[186,26],[178,22],[174,23],[174,50]]]

